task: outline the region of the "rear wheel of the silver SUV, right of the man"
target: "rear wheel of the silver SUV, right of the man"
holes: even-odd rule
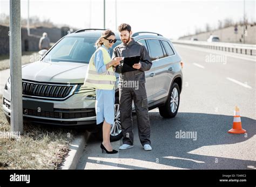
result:
[[[180,90],[177,83],[173,83],[167,102],[159,107],[159,113],[164,118],[174,118],[179,109]]]

